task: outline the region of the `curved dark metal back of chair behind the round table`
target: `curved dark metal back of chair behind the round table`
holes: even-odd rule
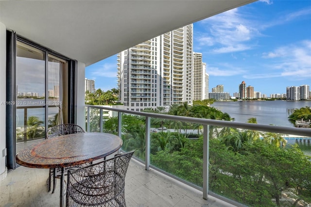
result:
[[[84,133],[82,127],[75,124],[61,124],[48,129],[45,139],[57,137],[66,134]]]

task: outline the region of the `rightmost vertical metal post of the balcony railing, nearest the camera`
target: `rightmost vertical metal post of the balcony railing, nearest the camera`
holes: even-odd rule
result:
[[[209,125],[203,125],[203,199],[208,200]]]

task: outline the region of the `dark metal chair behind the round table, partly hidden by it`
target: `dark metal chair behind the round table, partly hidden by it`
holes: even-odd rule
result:
[[[45,139],[51,139],[66,134],[84,133],[85,131],[75,124],[61,124],[56,125],[48,129]],[[65,168],[65,172],[71,167]],[[53,191],[55,191],[56,178],[60,178],[61,168],[50,168],[49,178],[47,180],[48,191],[51,191],[51,178],[53,177]]]

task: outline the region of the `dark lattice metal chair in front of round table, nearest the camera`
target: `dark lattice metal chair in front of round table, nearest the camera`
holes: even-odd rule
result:
[[[67,207],[126,207],[125,175],[134,151],[68,171]]]

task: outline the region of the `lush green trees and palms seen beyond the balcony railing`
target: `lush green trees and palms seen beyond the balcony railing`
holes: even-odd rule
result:
[[[231,121],[226,113],[203,105],[173,105],[169,113]],[[251,117],[248,123],[256,124]],[[185,179],[203,185],[203,137],[200,126],[191,123],[151,119],[152,127],[175,129],[151,133],[151,164]],[[116,133],[118,119],[109,118],[104,130]],[[198,139],[189,139],[187,129],[198,129]],[[181,129],[185,133],[181,133]],[[297,146],[282,147],[282,134],[263,133],[210,126],[209,190],[252,207],[292,206],[303,200],[311,202],[311,158]],[[136,150],[136,156],[145,159],[144,118],[122,115],[122,148]],[[259,139],[262,137],[262,139]],[[283,201],[283,192],[292,191],[294,199]]]

